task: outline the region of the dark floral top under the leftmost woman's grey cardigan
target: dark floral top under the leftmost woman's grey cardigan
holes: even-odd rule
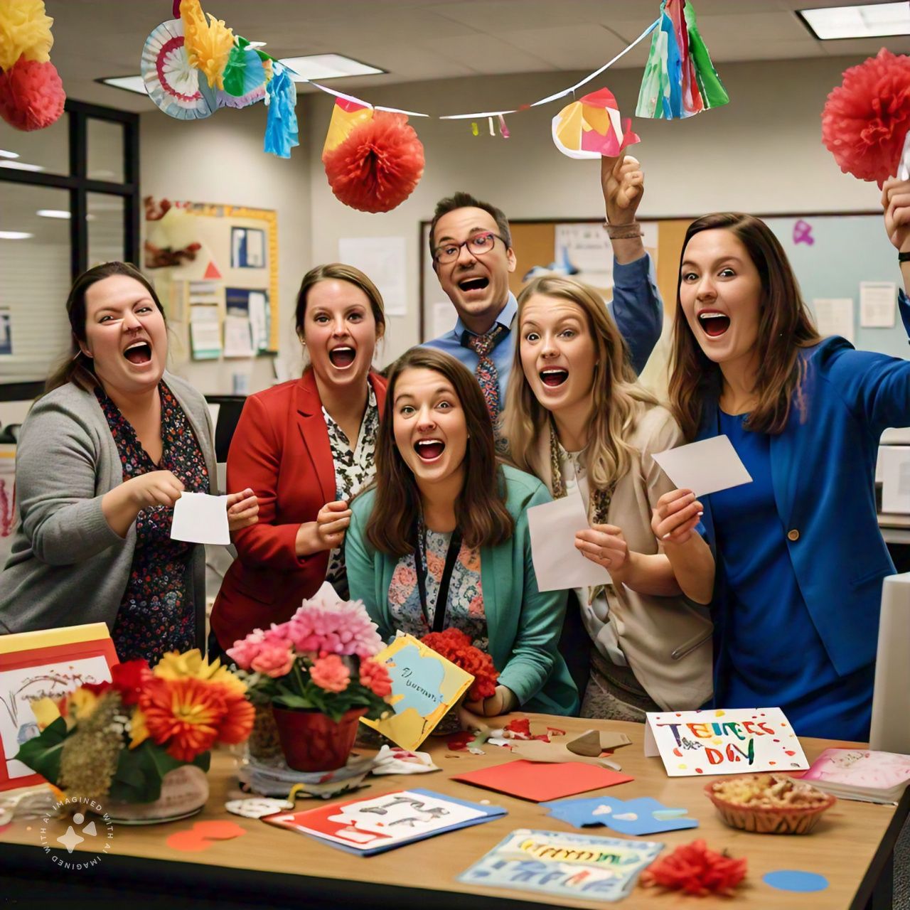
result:
[[[153,470],[169,470],[188,492],[208,492],[202,450],[177,399],[162,381],[161,463],[156,464],[116,404],[100,386],[95,394],[123,462],[123,479]],[[196,609],[187,597],[186,578],[195,544],[170,539],[174,510],[149,506],[136,516],[136,549],[112,637],[121,661],[144,657],[157,663],[168,651],[196,646]]]

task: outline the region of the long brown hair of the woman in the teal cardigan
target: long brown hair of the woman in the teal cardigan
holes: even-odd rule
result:
[[[506,509],[505,477],[496,460],[493,425],[477,379],[458,360],[432,348],[411,348],[389,370],[386,405],[376,440],[376,500],[367,540],[380,552],[404,556],[417,542],[420,490],[395,444],[395,387],[408,369],[431,369],[448,379],[468,425],[464,485],[455,501],[455,521],[469,547],[507,541],[515,522]]]

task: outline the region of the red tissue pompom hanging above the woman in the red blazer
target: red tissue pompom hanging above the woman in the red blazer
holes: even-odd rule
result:
[[[423,176],[423,146],[406,116],[376,111],[322,163],[339,202],[361,212],[389,212]]]

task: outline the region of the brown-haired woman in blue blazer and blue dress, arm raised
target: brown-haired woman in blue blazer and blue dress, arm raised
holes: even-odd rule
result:
[[[885,184],[910,286],[910,183]],[[875,458],[910,424],[910,363],[821,339],[771,230],[698,218],[682,248],[670,394],[688,440],[733,442],[753,482],[701,497],[717,551],[714,703],[868,739],[882,580]],[[688,491],[676,504],[684,506]]]

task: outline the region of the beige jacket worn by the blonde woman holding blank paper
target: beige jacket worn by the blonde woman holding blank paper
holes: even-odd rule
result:
[[[635,449],[632,468],[616,484],[608,521],[622,528],[630,550],[654,554],[662,547],[651,530],[652,506],[674,486],[652,453],[678,446],[682,431],[668,410],[655,406],[642,415],[629,441]],[[548,431],[541,433],[529,456],[532,470],[552,491]],[[665,711],[700,708],[707,702],[712,693],[713,630],[708,608],[682,596],[642,594],[624,585],[608,586],[607,600],[622,652],[652,699]]]

